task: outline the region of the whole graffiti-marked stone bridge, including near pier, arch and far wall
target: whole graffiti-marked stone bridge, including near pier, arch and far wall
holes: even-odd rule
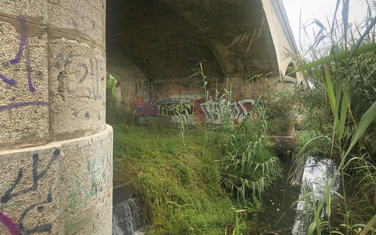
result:
[[[285,48],[280,0],[0,0],[0,233],[111,234],[106,70],[140,117],[168,116],[183,93],[205,122],[195,64],[209,87],[229,77],[241,114],[294,81],[267,82],[291,65]]]

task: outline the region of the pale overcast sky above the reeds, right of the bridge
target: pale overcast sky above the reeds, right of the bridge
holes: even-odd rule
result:
[[[294,38],[296,41],[297,46],[299,47],[299,17],[300,17],[300,6],[302,5],[302,0],[282,0],[288,19],[290,21],[291,30],[293,31]],[[342,1],[341,1],[342,2]],[[310,18],[315,18],[319,20],[321,23],[324,24],[329,29],[326,15],[329,18],[329,21],[333,20],[335,6],[337,4],[337,0],[303,0],[302,6],[302,22],[305,23],[307,20],[309,23],[312,20]],[[340,9],[338,9],[337,16],[338,18],[342,18],[342,5]],[[360,23],[364,20],[365,15],[367,15],[367,3],[365,0],[350,0],[350,13],[349,13],[349,22],[355,23],[355,20]],[[314,41],[315,36],[312,31],[312,27],[315,29],[315,33],[320,30],[320,27],[317,25],[311,25],[308,28],[309,39]],[[303,44],[303,32],[301,36],[301,42],[303,49],[309,46],[309,42],[305,39],[305,43]],[[299,48],[300,49],[300,48]]]

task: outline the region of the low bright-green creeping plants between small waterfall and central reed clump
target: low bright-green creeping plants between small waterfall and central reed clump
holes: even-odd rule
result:
[[[128,171],[143,196],[148,234],[232,234],[235,211],[241,233],[253,234],[258,200],[240,205],[221,186],[220,153],[204,151],[205,132],[168,126],[115,124],[114,167]],[[204,154],[205,152],[205,154]],[[257,233],[255,233],[257,234]]]

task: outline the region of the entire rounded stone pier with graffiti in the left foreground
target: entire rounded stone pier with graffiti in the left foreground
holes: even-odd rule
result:
[[[0,234],[111,235],[105,0],[0,0]]]

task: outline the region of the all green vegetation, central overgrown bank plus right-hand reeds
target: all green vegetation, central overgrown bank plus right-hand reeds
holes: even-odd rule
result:
[[[259,234],[254,215],[261,209],[262,193],[280,175],[278,159],[268,147],[268,124],[276,134],[291,125],[300,130],[295,159],[324,155],[338,162],[334,176],[320,190],[324,197],[317,198],[318,190],[303,183],[305,194],[298,201],[306,202],[308,234],[321,235],[324,228],[342,235],[376,233],[376,4],[366,1],[368,16],[362,25],[353,26],[348,22],[349,1],[342,2],[343,19],[334,18],[330,30],[314,20],[321,29],[308,52],[303,57],[289,55],[300,67],[297,71],[304,71],[306,82],[295,84],[293,91],[270,93],[279,99],[268,110],[268,122],[264,112],[255,111],[234,123],[230,83],[210,92],[215,99],[207,109],[214,112],[216,123],[194,130],[187,130],[194,124],[182,114],[172,124],[150,121],[146,127],[137,126],[135,118],[124,118],[128,114],[118,113],[115,103],[109,105],[116,109],[109,115],[115,167],[135,178],[149,234]],[[197,82],[208,100],[199,65],[193,76],[200,77]],[[287,119],[291,122],[279,124]],[[335,192],[339,175],[343,185]],[[342,230],[331,224],[334,196],[343,202]],[[323,214],[328,221],[321,221]]]

